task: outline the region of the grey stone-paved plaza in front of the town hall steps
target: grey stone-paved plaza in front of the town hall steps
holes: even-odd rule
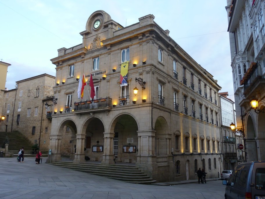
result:
[[[45,161],[46,158],[38,165],[33,157],[26,157],[24,163],[17,162],[16,158],[0,158],[0,198],[219,199],[224,198],[225,193],[221,180],[171,186],[132,184],[49,165]]]

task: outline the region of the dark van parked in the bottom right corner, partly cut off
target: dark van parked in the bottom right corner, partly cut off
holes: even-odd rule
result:
[[[225,199],[265,199],[265,161],[236,166],[228,182],[223,180]]]

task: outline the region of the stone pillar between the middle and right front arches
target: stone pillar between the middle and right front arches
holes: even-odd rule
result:
[[[104,132],[104,146],[101,164],[109,165],[114,164],[114,154],[113,154],[113,138],[114,133]]]

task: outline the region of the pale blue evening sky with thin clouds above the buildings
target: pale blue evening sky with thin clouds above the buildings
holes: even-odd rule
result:
[[[129,26],[148,14],[198,64],[205,68],[234,101],[226,0],[0,0],[0,61],[10,63],[6,88],[47,73],[55,76],[50,59],[57,49],[82,43],[88,17],[104,10]]]

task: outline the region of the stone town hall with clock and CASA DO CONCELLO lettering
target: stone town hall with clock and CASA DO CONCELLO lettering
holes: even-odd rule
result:
[[[68,155],[76,163],[89,157],[108,165],[115,157],[135,163],[157,181],[195,179],[199,167],[209,177],[221,172],[221,87],[169,37],[169,30],[161,29],[153,15],[123,27],[98,10],[80,35],[81,44],[58,49],[51,59],[57,98],[52,161]],[[121,64],[127,61],[128,85],[121,87]],[[87,86],[78,99],[83,74]]]

